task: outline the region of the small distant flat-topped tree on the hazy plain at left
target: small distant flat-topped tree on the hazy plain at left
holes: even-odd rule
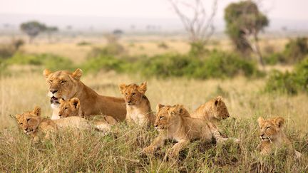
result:
[[[46,31],[46,26],[38,21],[28,21],[26,23],[21,23],[21,31],[24,31],[29,36],[29,43],[32,43],[34,38],[39,35],[39,33]]]

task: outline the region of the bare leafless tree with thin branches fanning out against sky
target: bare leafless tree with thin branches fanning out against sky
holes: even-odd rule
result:
[[[213,19],[217,11],[217,0],[212,1],[211,11],[207,13],[205,1],[169,0],[175,13],[180,17],[190,38],[190,51],[200,53],[215,31]]]

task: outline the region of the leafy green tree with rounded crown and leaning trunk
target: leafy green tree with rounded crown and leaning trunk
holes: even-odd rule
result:
[[[262,14],[253,1],[240,1],[232,3],[225,9],[227,34],[230,36],[238,51],[247,54],[253,51],[261,65],[264,61],[259,46],[259,33],[268,26],[269,21]]]

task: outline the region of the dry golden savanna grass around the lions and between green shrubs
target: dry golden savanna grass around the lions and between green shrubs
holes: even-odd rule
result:
[[[3,40],[7,38],[2,38]],[[91,46],[78,46],[84,38],[64,40],[60,43],[37,43],[24,46],[26,53],[54,53],[83,63]],[[123,38],[121,43],[130,55],[153,55],[175,51],[186,53],[189,46],[182,38],[164,40],[168,48],[158,48],[162,38],[138,36]],[[272,42],[271,42],[272,41]],[[262,46],[274,45],[282,49],[285,39],[263,41]],[[103,42],[91,40],[96,46]],[[222,40],[212,47],[230,49],[230,42]],[[277,67],[276,67],[277,68]],[[278,67],[280,70],[292,67]],[[152,109],[158,103],[183,104],[188,110],[210,98],[222,95],[230,112],[230,118],[222,121],[222,133],[240,138],[240,145],[191,143],[178,159],[168,159],[164,152],[172,142],[167,142],[154,156],[141,153],[157,134],[124,123],[113,129],[111,135],[103,136],[96,131],[81,135],[71,132],[56,134],[55,139],[34,144],[16,127],[9,115],[31,110],[39,105],[43,115],[51,115],[47,84],[42,75],[43,67],[12,65],[10,75],[0,78],[0,170],[1,172],[308,172],[307,159],[298,162],[287,152],[262,158],[258,154],[257,117],[282,116],[286,119],[285,132],[294,148],[308,158],[308,97],[278,95],[263,92],[266,78],[195,80],[188,78],[145,78],[141,75],[104,72],[83,75],[81,80],[101,95],[122,97],[120,83],[148,81],[148,96]]]

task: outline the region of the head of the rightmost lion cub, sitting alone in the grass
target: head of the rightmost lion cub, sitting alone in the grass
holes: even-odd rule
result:
[[[282,117],[273,117],[267,120],[264,120],[262,117],[259,117],[257,122],[260,127],[260,139],[262,141],[273,141],[279,135],[279,132],[282,130],[284,124],[284,118]]]

